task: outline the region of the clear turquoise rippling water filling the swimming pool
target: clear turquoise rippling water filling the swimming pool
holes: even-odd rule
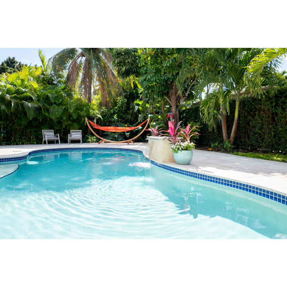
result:
[[[287,238],[286,213],[275,201],[120,151],[37,154],[0,179],[6,239]]]

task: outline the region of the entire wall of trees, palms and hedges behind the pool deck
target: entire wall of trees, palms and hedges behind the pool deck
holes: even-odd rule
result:
[[[41,129],[54,129],[61,141],[70,129],[82,129],[93,142],[85,117],[120,127],[149,117],[148,131],[164,129],[174,143],[181,133],[197,144],[286,152],[286,93],[280,92],[286,72],[278,72],[285,53],[285,48],[67,48],[49,61],[39,51],[42,67],[9,57],[1,64],[0,142],[37,143]],[[102,136],[123,140],[134,133]]]

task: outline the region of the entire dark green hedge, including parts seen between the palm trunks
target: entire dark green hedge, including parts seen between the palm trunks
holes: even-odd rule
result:
[[[229,106],[230,114],[233,115],[236,100],[231,99]],[[200,105],[184,110],[181,117],[190,119],[193,123],[200,121]],[[264,98],[251,98],[250,96],[241,98],[238,119],[236,141],[232,145],[237,150],[287,154],[286,87],[280,88],[274,95],[266,91]],[[226,117],[226,126],[228,130],[232,129],[233,119],[231,117]],[[217,142],[217,146],[220,144],[220,150],[224,148],[220,129],[210,131],[207,123],[201,123],[199,133],[197,146],[212,147],[211,144]]]

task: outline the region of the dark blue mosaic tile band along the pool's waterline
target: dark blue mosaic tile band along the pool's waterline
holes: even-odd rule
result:
[[[122,152],[131,152],[131,153],[144,155],[141,150],[133,150],[133,149],[128,149],[128,148],[55,148],[55,149],[34,150],[32,152],[29,152],[29,154],[27,154],[25,156],[19,156],[19,157],[13,157],[13,158],[0,158],[0,164],[13,162],[13,161],[15,162],[15,161],[20,161],[20,160],[26,160],[28,158],[28,156],[30,156],[32,154],[54,153],[54,152],[70,152],[70,151],[96,151],[96,150],[100,150],[100,151],[104,151],[104,150],[106,150],[106,151],[122,151]],[[151,164],[158,166],[160,168],[169,170],[171,172],[183,174],[185,176],[193,177],[196,179],[201,179],[204,181],[210,181],[212,183],[217,183],[220,185],[233,187],[233,188],[240,189],[240,190],[243,190],[243,191],[246,191],[249,193],[253,193],[253,194],[277,201],[277,202],[282,203],[284,205],[287,205],[287,195],[284,193],[274,192],[272,190],[263,189],[260,187],[249,185],[247,183],[241,183],[241,182],[233,181],[231,179],[213,177],[212,175],[208,175],[208,174],[201,174],[198,172],[192,172],[192,171],[188,171],[188,170],[184,170],[184,169],[180,169],[180,168],[171,167],[171,166],[168,166],[168,165],[165,165],[162,163],[155,162],[153,160],[151,160]]]

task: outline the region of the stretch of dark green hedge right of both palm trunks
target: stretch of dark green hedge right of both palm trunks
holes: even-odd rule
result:
[[[287,153],[287,89],[264,99],[244,98],[236,145]]]

